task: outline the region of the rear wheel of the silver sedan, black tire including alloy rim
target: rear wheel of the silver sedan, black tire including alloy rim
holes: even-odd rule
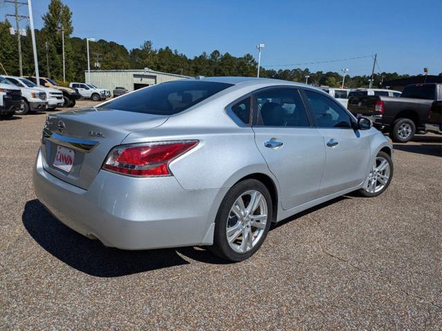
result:
[[[255,204],[251,202],[252,197],[255,197]],[[241,205],[237,203],[239,199],[243,202],[242,210],[244,213],[237,209],[237,206]],[[253,209],[251,206],[257,204],[258,207],[251,211]],[[242,216],[246,215],[246,217],[240,219],[232,211],[233,208]],[[215,219],[213,245],[210,250],[220,258],[231,262],[239,262],[250,258],[266,239],[270,223],[272,223],[272,208],[270,193],[267,187],[258,180],[243,180],[234,185],[225,195],[219,207]],[[264,219],[259,219],[264,215],[266,215],[265,223]],[[228,237],[228,231],[233,231],[230,237]],[[246,240],[247,238],[250,238],[250,240]],[[229,239],[232,240],[231,243],[229,243]],[[243,252],[241,252],[241,249],[243,249]]]

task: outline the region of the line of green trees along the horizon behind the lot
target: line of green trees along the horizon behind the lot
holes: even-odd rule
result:
[[[66,82],[83,82],[84,70],[87,69],[86,39],[71,37],[73,33],[72,12],[61,0],[51,0],[48,12],[42,17],[44,26],[35,30],[37,55],[39,59],[39,73],[41,76],[50,76],[62,81],[62,32],[64,30],[64,48],[66,56]],[[8,20],[0,22],[0,64],[9,75],[19,75],[19,61],[17,50],[17,37],[10,35],[11,24]],[[47,45],[47,46],[46,46]],[[30,31],[27,37],[21,37],[21,50],[24,75],[34,75],[33,48]],[[220,53],[214,50],[208,54],[203,52],[196,57],[187,57],[165,48],[154,48],[152,41],[145,41],[140,47],[127,50],[125,46],[114,41],[100,39],[89,43],[91,54],[91,69],[143,69],[176,73],[180,75],[195,76],[256,76],[257,61],[246,54],[234,57],[230,53]],[[95,67],[96,59],[100,67]],[[47,63],[49,66],[47,66]],[[0,71],[3,71],[0,66]],[[311,72],[309,69],[266,69],[260,68],[261,77],[284,79],[293,82],[305,82],[309,75],[309,84],[339,87],[342,75],[331,71]],[[409,75],[398,73],[376,73],[374,87],[380,86],[382,80],[399,79]],[[367,87],[369,76],[345,77],[345,86],[348,88]]]

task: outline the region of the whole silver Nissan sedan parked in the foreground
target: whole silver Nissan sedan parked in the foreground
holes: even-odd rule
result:
[[[318,88],[199,77],[49,115],[33,182],[55,217],[104,245],[210,245],[241,261],[270,223],[351,191],[383,193],[392,153]]]

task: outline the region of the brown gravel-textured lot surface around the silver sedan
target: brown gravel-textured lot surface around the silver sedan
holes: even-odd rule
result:
[[[45,117],[0,122],[0,329],[442,330],[442,136],[396,144],[383,196],[310,209],[225,264],[58,223],[32,184]]]

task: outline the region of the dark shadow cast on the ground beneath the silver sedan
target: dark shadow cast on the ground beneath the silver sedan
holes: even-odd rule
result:
[[[312,209],[303,211],[296,216],[273,224],[270,227],[270,231],[312,211],[348,198],[346,196],[335,198]],[[37,199],[26,202],[22,220],[30,236],[47,252],[67,265],[91,276],[118,277],[189,264],[180,254],[203,263],[228,263],[221,258],[217,258],[217,256],[214,256],[204,247],[180,247],[142,251],[126,251],[105,247],[99,240],[86,238],[60,223]]]

